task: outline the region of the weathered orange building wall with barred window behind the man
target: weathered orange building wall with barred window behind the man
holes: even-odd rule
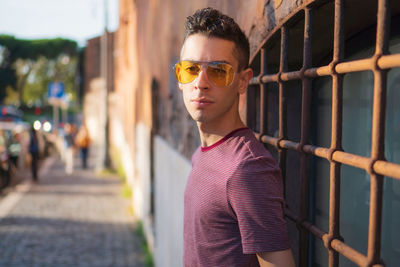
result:
[[[182,266],[183,192],[199,145],[172,67],[185,18],[233,17],[255,77],[241,116],[275,156],[298,266],[400,265],[400,2],[120,0],[111,158],[156,266]]]

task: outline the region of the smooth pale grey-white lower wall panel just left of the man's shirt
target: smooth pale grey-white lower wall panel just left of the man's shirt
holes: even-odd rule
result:
[[[191,163],[164,139],[154,138],[156,267],[182,266],[183,193]]]

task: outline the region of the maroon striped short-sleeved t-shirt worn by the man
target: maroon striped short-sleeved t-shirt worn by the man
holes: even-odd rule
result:
[[[280,170],[249,128],[199,147],[184,203],[185,267],[259,266],[290,248]]]

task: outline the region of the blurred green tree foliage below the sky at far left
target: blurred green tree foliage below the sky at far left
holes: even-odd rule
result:
[[[19,104],[43,101],[48,83],[55,80],[64,82],[74,97],[77,60],[75,41],[23,40],[0,35],[0,102],[4,102],[6,88],[18,94]]]

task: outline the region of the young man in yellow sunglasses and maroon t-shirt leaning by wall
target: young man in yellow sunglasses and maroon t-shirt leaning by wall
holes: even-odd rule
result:
[[[248,40],[212,8],[185,26],[175,74],[201,147],[185,190],[184,266],[294,266],[280,170],[239,117],[253,75]]]

